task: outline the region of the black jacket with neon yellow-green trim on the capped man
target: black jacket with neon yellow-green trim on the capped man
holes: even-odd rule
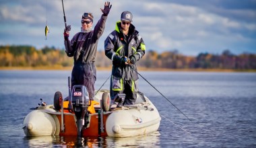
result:
[[[137,71],[136,65],[133,65],[133,69],[128,65],[121,65],[122,57],[129,58],[133,55],[136,61],[139,61],[145,54],[146,46],[133,24],[129,26],[128,36],[125,36],[121,31],[121,22],[117,22],[116,29],[108,35],[104,46],[106,57],[113,61],[114,77],[134,81],[139,79],[137,73],[133,71],[133,69]]]

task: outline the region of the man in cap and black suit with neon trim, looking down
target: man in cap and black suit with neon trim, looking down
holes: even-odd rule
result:
[[[113,61],[112,79],[110,81],[110,98],[125,94],[123,105],[135,103],[137,98],[136,62],[145,54],[146,46],[135,26],[131,24],[133,15],[129,11],[121,13],[121,21],[105,40],[105,54]],[[134,69],[134,70],[133,70]]]

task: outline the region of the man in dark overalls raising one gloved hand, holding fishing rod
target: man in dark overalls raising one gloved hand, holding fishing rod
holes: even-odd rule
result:
[[[92,13],[84,13],[81,21],[81,32],[78,32],[69,40],[69,31],[64,31],[65,51],[68,57],[73,57],[74,59],[71,74],[71,88],[73,88],[73,85],[85,85],[90,100],[94,98],[94,83],[96,81],[94,61],[96,58],[98,40],[104,32],[106,17],[111,6],[109,2],[105,2],[104,9],[101,9],[103,14],[94,27],[94,30],[92,30],[94,19]]]

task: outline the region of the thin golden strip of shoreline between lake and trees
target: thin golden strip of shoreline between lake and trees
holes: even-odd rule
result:
[[[0,67],[0,71],[20,70],[20,71],[72,71],[73,67]],[[111,71],[112,67],[96,67],[97,71]],[[256,73],[256,69],[234,70],[234,69],[163,69],[137,67],[138,71],[194,71],[194,72],[251,72]]]

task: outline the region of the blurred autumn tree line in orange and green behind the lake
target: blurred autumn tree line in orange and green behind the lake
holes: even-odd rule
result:
[[[67,57],[65,50],[45,46],[0,46],[0,67],[71,67],[73,58]],[[164,69],[256,69],[256,54],[233,54],[224,50],[222,54],[199,53],[186,56],[178,50],[158,53],[147,50],[144,57],[137,62],[139,67]],[[111,67],[104,50],[98,50],[96,67]]]

